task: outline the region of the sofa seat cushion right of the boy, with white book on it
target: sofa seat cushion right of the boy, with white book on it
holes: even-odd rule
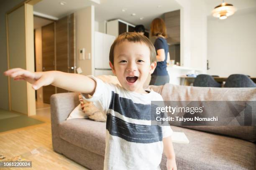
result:
[[[173,143],[178,169],[255,170],[256,144],[177,126],[171,128],[174,132],[184,132],[189,139],[189,144]],[[166,170],[163,157],[161,169]]]

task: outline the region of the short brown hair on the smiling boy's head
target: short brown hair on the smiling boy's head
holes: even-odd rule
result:
[[[138,42],[138,43],[144,43],[146,46],[148,46],[150,50],[150,63],[153,63],[156,61],[156,49],[152,42],[144,35],[140,35],[137,32],[124,32],[120,34],[113,44],[111,45],[110,52],[109,52],[109,60],[114,65],[114,50],[115,46],[120,44],[121,42],[128,40],[128,42]]]

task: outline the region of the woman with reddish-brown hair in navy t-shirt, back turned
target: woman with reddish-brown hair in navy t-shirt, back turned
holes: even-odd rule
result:
[[[169,62],[169,46],[166,41],[167,33],[164,20],[155,18],[151,23],[151,36],[156,36],[154,43],[156,49],[156,69],[151,74],[149,85],[164,85],[169,83],[169,75],[166,70],[167,62]]]

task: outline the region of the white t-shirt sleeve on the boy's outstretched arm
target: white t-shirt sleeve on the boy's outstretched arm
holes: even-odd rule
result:
[[[92,78],[96,82],[95,92],[92,97],[87,98],[86,94],[81,93],[84,100],[93,102],[93,104],[105,114],[108,111],[112,92],[115,92],[115,85],[111,83],[106,83],[100,80],[99,78],[94,77],[93,75],[88,75],[87,77]]]

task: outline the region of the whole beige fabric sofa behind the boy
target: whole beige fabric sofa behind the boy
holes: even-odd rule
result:
[[[256,100],[256,88],[151,86],[164,100]],[[102,170],[105,154],[105,122],[66,120],[79,104],[77,93],[51,96],[53,149],[91,169]],[[171,126],[184,132],[189,144],[174,143],[178,170],[255,170],[255,126]],[[254,142],[251,142],[254,141]],[[163,154],[161,170],[166,170]]]

